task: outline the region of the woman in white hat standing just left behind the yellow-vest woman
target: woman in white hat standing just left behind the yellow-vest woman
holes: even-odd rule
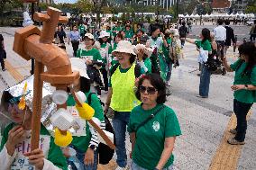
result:
[[[101,58],[103,59],[103,63],[104,63],[104,66],[101,67],[101,73],[103,75],[103,79],[104,79],[104,91],[105,91],[105,94],[107,93],[108,91],[108,70],[109,70],[109,67],[108,67],[108,63],[110,62],[110,59],[109,59],[109,56],[108,56],[108,50],[110,48],[110,43],[107,42],[108,38],[110,37],[110,34],[106,31],[101,31],[100,32],[100,35],[99,35],[99,43],[100,43],[100,54],[101,54]]]

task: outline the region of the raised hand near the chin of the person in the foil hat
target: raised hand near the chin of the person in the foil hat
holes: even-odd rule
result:
[[[23,130],[22,126],[15,126],[8,133],[8,139],[6,141],[5,147],[7,149],[7,153],[9,156],[14,155],[15,146],[23,141],[25,138],[25,130]]]

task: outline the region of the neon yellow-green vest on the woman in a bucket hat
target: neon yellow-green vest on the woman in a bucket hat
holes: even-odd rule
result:
[[[133,90],[136,79],[134,69],[134,64],[126,73],[121,73],[120,69],[116,69],[111,76],[113,94],[110,107],[114,111],[131,112],[135,106],[140,104]]]

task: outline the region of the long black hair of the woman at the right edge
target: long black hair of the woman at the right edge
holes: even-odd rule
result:
[[[243,75],[251,73],[252,68],[256,65],[256,47],[253,42],[245,42],[238,48],[240,55],[248,58],[248,65],[243,70]]]

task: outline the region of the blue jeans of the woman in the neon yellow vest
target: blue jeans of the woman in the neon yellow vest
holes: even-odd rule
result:
[[[127,165],[127,155],[125,148],[126,126],[130,119],[130,112],[114,112],[113,128],[116,139],[116,163],[120,167]]]

